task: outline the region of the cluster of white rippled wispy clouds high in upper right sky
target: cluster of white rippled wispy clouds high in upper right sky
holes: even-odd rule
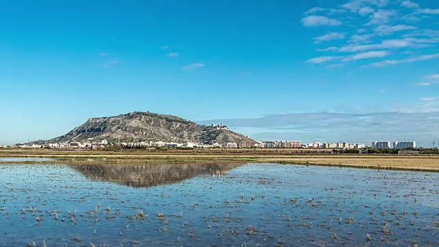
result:
[[[325,51],[327,56],[311,58],[306,62],[319,64],[337,60],[341,62],[340,64],[345,64],[345,62],[354,60],[394,56],[392,59],[361,66],[381,67],[436,58],[435,54],[431,54],[431,49],[439,44],[439,31],[432,30],[431,27],[425,29],[423,27],[428,26],[421,22],[433,21],[431,15],[439,14],[439,9],[431,8],[431,5],[430,8],[423,8],[424,6],[420,6],[416,0],[345,1],[347,2],[333,9],[318,7],[305,13],[309,15],[302,19],[305,26],[343,25],[348,27],[344,30],[337,28],[334,32],[313,37],[315,44],[337,40],[339,45],[326,48],[316,47],[317,51]],[[347,14],[331,14],[337,12],[335,10],[344,10]],[[317,12],[318,14],[313,14]],[[401,23],[407,22],[409,16],[418,19],[416,25]],[[352,30],[353,26],[361,28]],[[346,36],[348,38],[344,40]],[[388,38],[383,38],[385,36]],[[348,56],[341,55],[344,53]],[[410,57],[413,54],[429,55]],[[330,64],[327,67],[333,66],[336,65]]]

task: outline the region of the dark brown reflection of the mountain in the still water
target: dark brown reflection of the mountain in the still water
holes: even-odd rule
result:
[[[130,187],[151,187],[178,183],[181,180],[198,175],[223,176],[237,164],[209,165],[71,165],[91,181],[103,181],[127,185]]]

